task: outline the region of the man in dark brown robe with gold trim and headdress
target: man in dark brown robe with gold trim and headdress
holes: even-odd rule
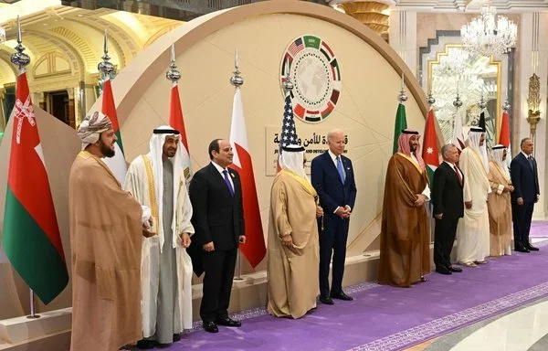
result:
[[[425,163],[418,154],[420,135],[402,131],[398,151],[388,161],[381,226],[378,282],[408,288],[430,271],[430,197]]]

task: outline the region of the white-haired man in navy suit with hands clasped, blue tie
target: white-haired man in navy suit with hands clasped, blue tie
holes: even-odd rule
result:
[[[320,197],[323,225],[320,229],[320,301],[333,304],[332,298],[345,301],[352,297],[342,292],[346,259],[346,240],[350,214],[356,199],[352,162],[342,155],[345,140],[341,130],[327,134],[329,150],[311,164],[311,183]],[[323,230],[321,230],[323,227]],[[332,287],[329,288],[329,264],[332,260]]]

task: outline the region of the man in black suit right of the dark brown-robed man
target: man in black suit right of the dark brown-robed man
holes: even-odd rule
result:
[[[461,272],[462,269],[451,265],[451,250],[457,234],[458,218],[464,216],[464,198],[462,187],[464,177],[457,166],[458,149],[454,144],[445,144],[441,148],[443,162],[434,172],[431,198],[434,204],[434,263],[440,274]]]

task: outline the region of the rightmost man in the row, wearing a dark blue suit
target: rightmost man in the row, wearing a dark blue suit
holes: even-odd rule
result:
[[[510,164],[511,217],[514,228],[514,250],[519,252],[538,251],[529,242],[529,229],[534,204],[541,196],[536,160],[532,157],[532,140],[522,139],[522,152],[517,154]]]

